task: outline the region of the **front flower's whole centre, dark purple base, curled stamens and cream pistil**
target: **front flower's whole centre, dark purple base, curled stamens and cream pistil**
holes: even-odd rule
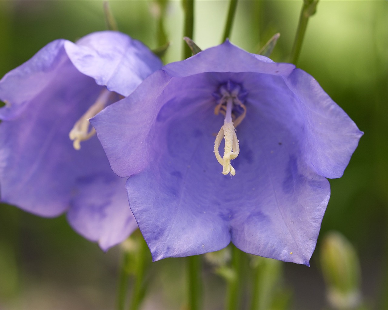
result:
[[[218,92],[215,93],[214,96],[218,98],[214,113],[216,115],[222,113],[225,116],[223,125],[221,126],[214,143],[214,153],[217,161],[223,167],[222,174],[234,176],[236,170],[230,164],[230,160],[235,159],[240,152],[236,127],[246,115],[246,107],[241,102],[241,99],[245,98],[246,93],[241,91],[240,85],[228,81],[220,86]],[[225,139],[225,147],[223,157],[221,157],[218,148],[223,139]]]

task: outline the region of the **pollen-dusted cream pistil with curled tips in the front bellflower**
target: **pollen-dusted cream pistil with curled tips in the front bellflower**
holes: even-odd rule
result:
[[[214,143],[214,153],[217,161],[223,166],[222,174],[230,173],[231,176],[236,174],[236,170],[230,164],[230,160],[236,158],[239,155],[239,140],[237,140],[236,129],[234,129],[232,122],[232,107],[233,99],[229,96],[226,103],[225,121],[221,126],[220,131],[217,134]],[[225,139],[224,154],[221,157],[218,148],[220,147],[222,139]]]

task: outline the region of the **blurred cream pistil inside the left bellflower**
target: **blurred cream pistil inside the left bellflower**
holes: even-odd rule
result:
[[[91,127],[89,119],[99,113],[107,104],[111,92],[107,89],[101,91],[95,103],[81,116],[69,132],[70,140],[73,140],[73,147],[80,150],[81,141],[90,139],[95,134],[95,129]],[[91,129],[89,130],[89,127]]]

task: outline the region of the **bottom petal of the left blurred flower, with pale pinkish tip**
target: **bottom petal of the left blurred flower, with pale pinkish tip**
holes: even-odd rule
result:
[[[68,221],[75,231],[98,241],[105,251],[137,228],[125,191],[126,179],[113,173],[97,137],[85,141],[79,152],[81,156],[74,164],[90,167],[88,162],[92,162],[93,166],[75,180]]]

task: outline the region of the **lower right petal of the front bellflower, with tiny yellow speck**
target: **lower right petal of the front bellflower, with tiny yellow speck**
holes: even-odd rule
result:
[[[234,208],[232,242],[248,253],[308,265],[329,182],[305,164],[300,138],[284,122],[255,109],[238,128],[241,156],[234,167],[244,179],[235,195],[245,203]]]

